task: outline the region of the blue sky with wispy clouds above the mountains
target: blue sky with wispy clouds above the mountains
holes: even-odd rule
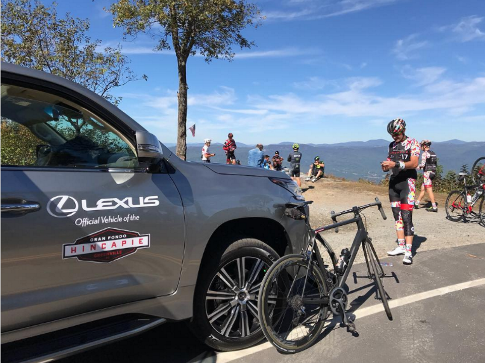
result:
[[[233,62],[199,56],[187,66],[187,127],[196,138],[248,144],[389,139],[402,117],[417,139],[484,140],[485,1],[259,0],[263,26],[246,29],[257,47]],[[111,2],[61,1],[88,18],[90,35],[121,42],[137,81],[117,89],[120,108],[162,142],[176,141],[178,88],[173,52],[156,41],[123,41]]]

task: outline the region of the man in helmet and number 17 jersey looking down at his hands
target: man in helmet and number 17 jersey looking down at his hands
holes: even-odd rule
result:
[[[396,222],[398,247],[387,252],[390,256],[404,254],[403,263],[413,263],[414,225],[413,206],[416,193],[416,167],[419,162],[419,144],[406,136],[406,123],[401,118],[393,119],[387,125],[387,132],[394,141],[389,145],[387,160],[381,163],[383,171],[392,170],[389,180],[389,200]]]

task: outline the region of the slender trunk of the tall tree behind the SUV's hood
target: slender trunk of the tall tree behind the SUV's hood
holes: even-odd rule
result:
[[[176,154],[185,160],[187,154],[187,62],[178,62],[178,120]]]

